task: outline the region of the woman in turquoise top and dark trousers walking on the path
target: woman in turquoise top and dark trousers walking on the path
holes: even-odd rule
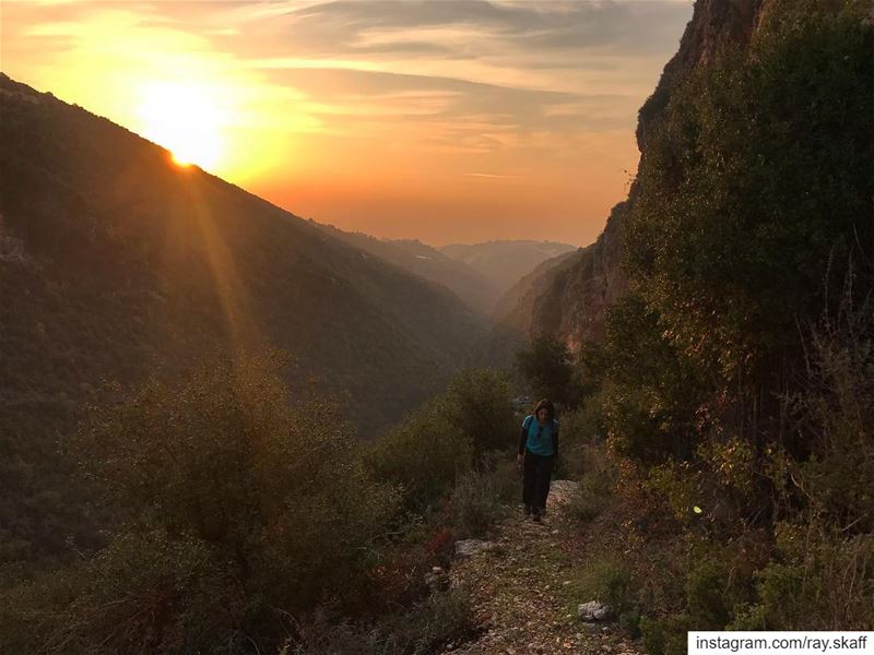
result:
[[[557,460],[558,421],[555,419],[555,406],[544,398],[534,407],[534,414],[529,414],[522,421],[517,457],[519,468],[523,472],[525,517],[533,514],[538,523],[546,509],[550,479]]]

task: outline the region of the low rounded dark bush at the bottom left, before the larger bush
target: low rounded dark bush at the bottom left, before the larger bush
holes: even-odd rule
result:
[[[42,644],[49,654],[214,651],[241,636],[240,581],[202,541],[118,535],[88,564],[85,590]]]

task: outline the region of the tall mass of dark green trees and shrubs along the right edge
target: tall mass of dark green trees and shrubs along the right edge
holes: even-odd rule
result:
[[[771,3],[748,47],[677,78],[641,132],[631,293],[609,312],[595,397],[621,471],[636,472],[628,493],[665,508],[685,550],[675,580],[641,587],[670,598],[642,606],[652,653],[685,652],[689,629],[872,620],[864,12]]]

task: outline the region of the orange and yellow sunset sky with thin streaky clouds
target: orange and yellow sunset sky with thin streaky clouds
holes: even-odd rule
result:
[[[690,0],[3,0],[0,68],[305,218],[592,242]]]

